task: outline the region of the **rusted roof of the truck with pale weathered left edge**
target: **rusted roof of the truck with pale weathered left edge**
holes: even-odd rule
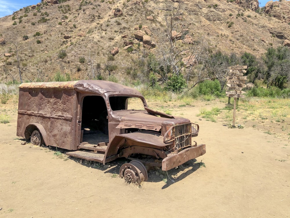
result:
[[[120,92],[122,94],[141,93],[131,87],[105,80],[78,80],[68,82],[35,82],[22,83],[19,88],[61,88],[75,89],[78,92],[90,92],[104,94],[106,92]]]

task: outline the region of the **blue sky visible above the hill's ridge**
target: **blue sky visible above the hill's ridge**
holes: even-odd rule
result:
[[[269,0],[260,0],[260,7],[265,6]],[[41,2],[41,0],[0,0],[0,17],[13,14],[14,11],[20,8],[35,5]]]

